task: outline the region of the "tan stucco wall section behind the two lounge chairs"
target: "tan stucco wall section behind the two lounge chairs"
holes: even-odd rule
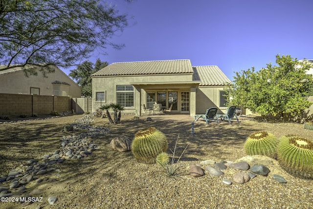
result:
[[[196,114],[203,114],[210,107],[217,107],[218,114],[225,113],[227,107],[221,107],[220,91],[224,91],[223,86],[200,86],[196,93]]]

